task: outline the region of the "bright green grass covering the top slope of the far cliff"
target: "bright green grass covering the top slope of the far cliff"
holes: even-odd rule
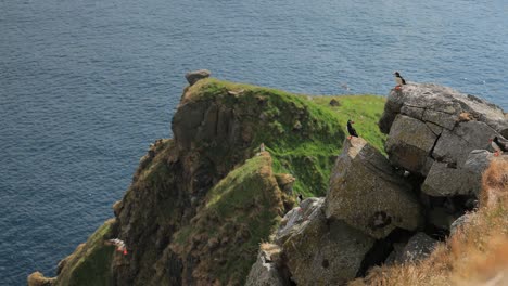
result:
[[[332,99],[339,106],[329,104]],[[330,170],[347,134],[348,118],[356,120],[363,138],[383,151],[385,135],[377,127],[385,102],[381,96],[309,96],[206,79],[192,86],[183,101],[203,100],[234,108],[242,125],[252,128],[251,154],[264,143],[272,155],[275,171],[293,174],[294,190],[304,196],[326,194]],[[214,154],[224,156],[224,152]]]

